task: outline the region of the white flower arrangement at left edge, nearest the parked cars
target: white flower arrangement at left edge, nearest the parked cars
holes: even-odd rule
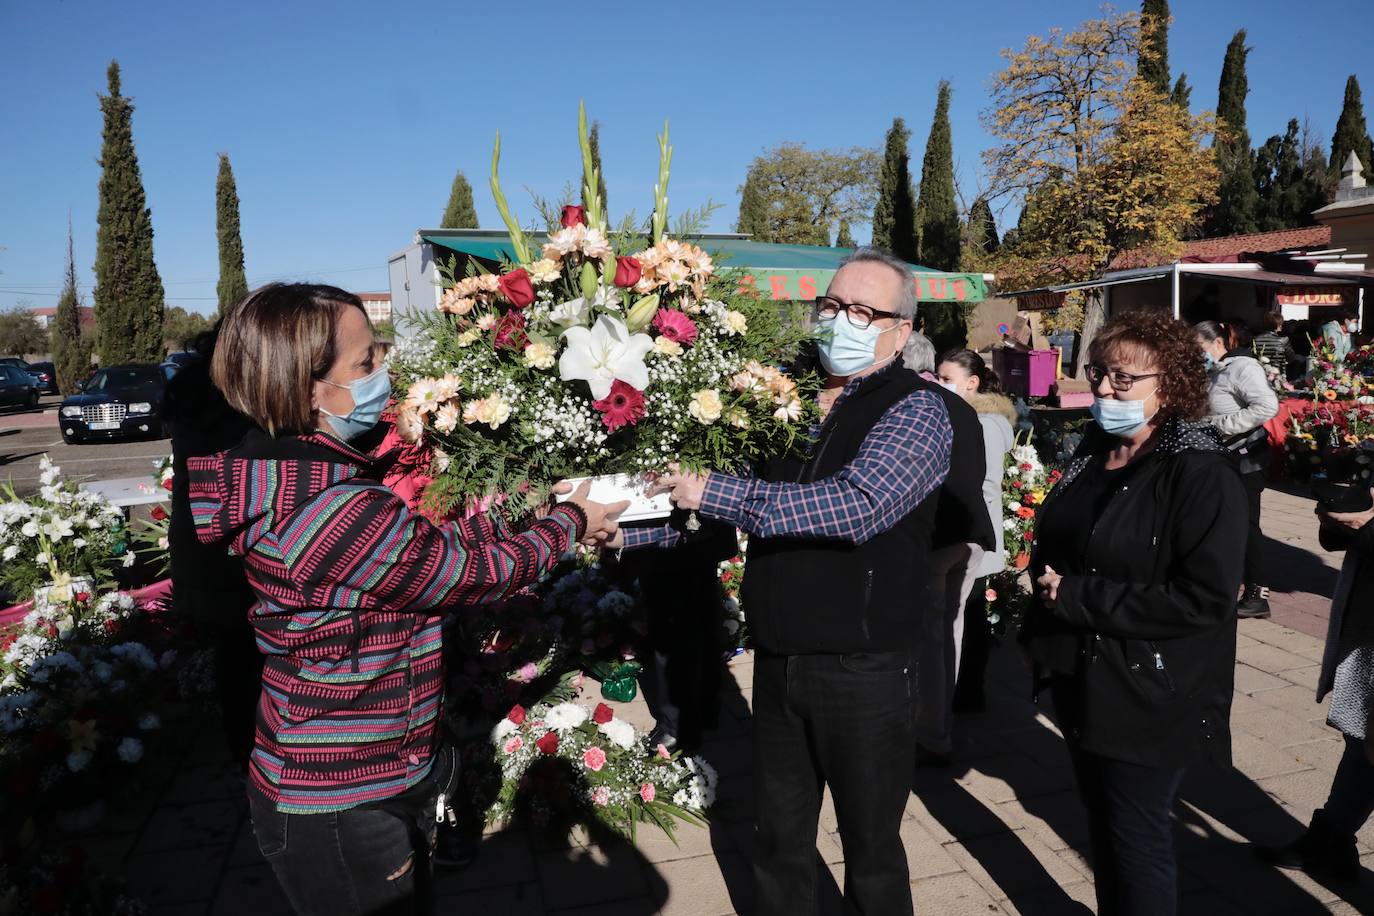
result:
[[[133,566],[124,514],[104,497],[63,481],[62,468],[47,455],[38,461],[36,494],[21,499],[11,485],[0,494],[0,585],[15,600],[73,580],[104,585],[115,567]]]

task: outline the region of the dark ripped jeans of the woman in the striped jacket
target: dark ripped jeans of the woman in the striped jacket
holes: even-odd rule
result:
[[[420,916],[430,912],[430,850],[438,783],[385,806],[283,814],[249,790],[253,834],[298,916]]]

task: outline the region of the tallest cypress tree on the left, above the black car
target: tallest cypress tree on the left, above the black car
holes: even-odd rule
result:
[[[133,151],[133,103],[110,62],[110,95],[100,96],[100,209],[95,236],[95,316],[100,361],[157,363],[162,357],[162,277],[153,262],[153,211]]]

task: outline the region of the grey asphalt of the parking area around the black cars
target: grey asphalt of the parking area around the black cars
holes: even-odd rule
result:
[[[151,474],[153,460],[172,450],[168,439],[67,445],[58,430],[59,401],[48,396],[37,411],[0,411],[0,483],[12,483],[21,494],[38,489],[38,459],[45,453],[63,477],[80,482]]]

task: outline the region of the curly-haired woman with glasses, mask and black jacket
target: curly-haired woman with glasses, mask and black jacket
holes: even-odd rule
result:
[[[1096,428],[1041,511],[1040,602],[1022,640],[1088,810],[1098,912],[1168,916],[1179,783],[1193,764],[1231,759],[1245,490],[1200,422],[1193,328],[1128,313],[1088,356]]]

